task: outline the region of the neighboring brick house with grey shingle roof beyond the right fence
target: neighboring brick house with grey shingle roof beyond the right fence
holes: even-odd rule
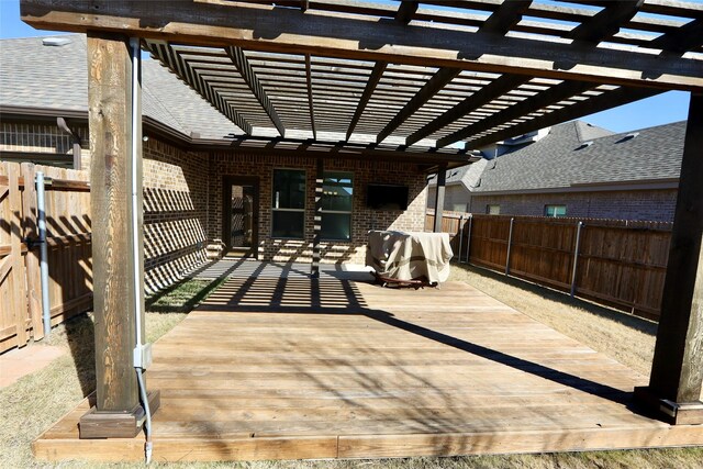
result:
[[[447,171],[445,209],[671,222],[685,122],[615,134],[582,121],[482,150]],[[435,186],[435,179],[429,180]],[[429,190],[428,206],[434,206]]]

